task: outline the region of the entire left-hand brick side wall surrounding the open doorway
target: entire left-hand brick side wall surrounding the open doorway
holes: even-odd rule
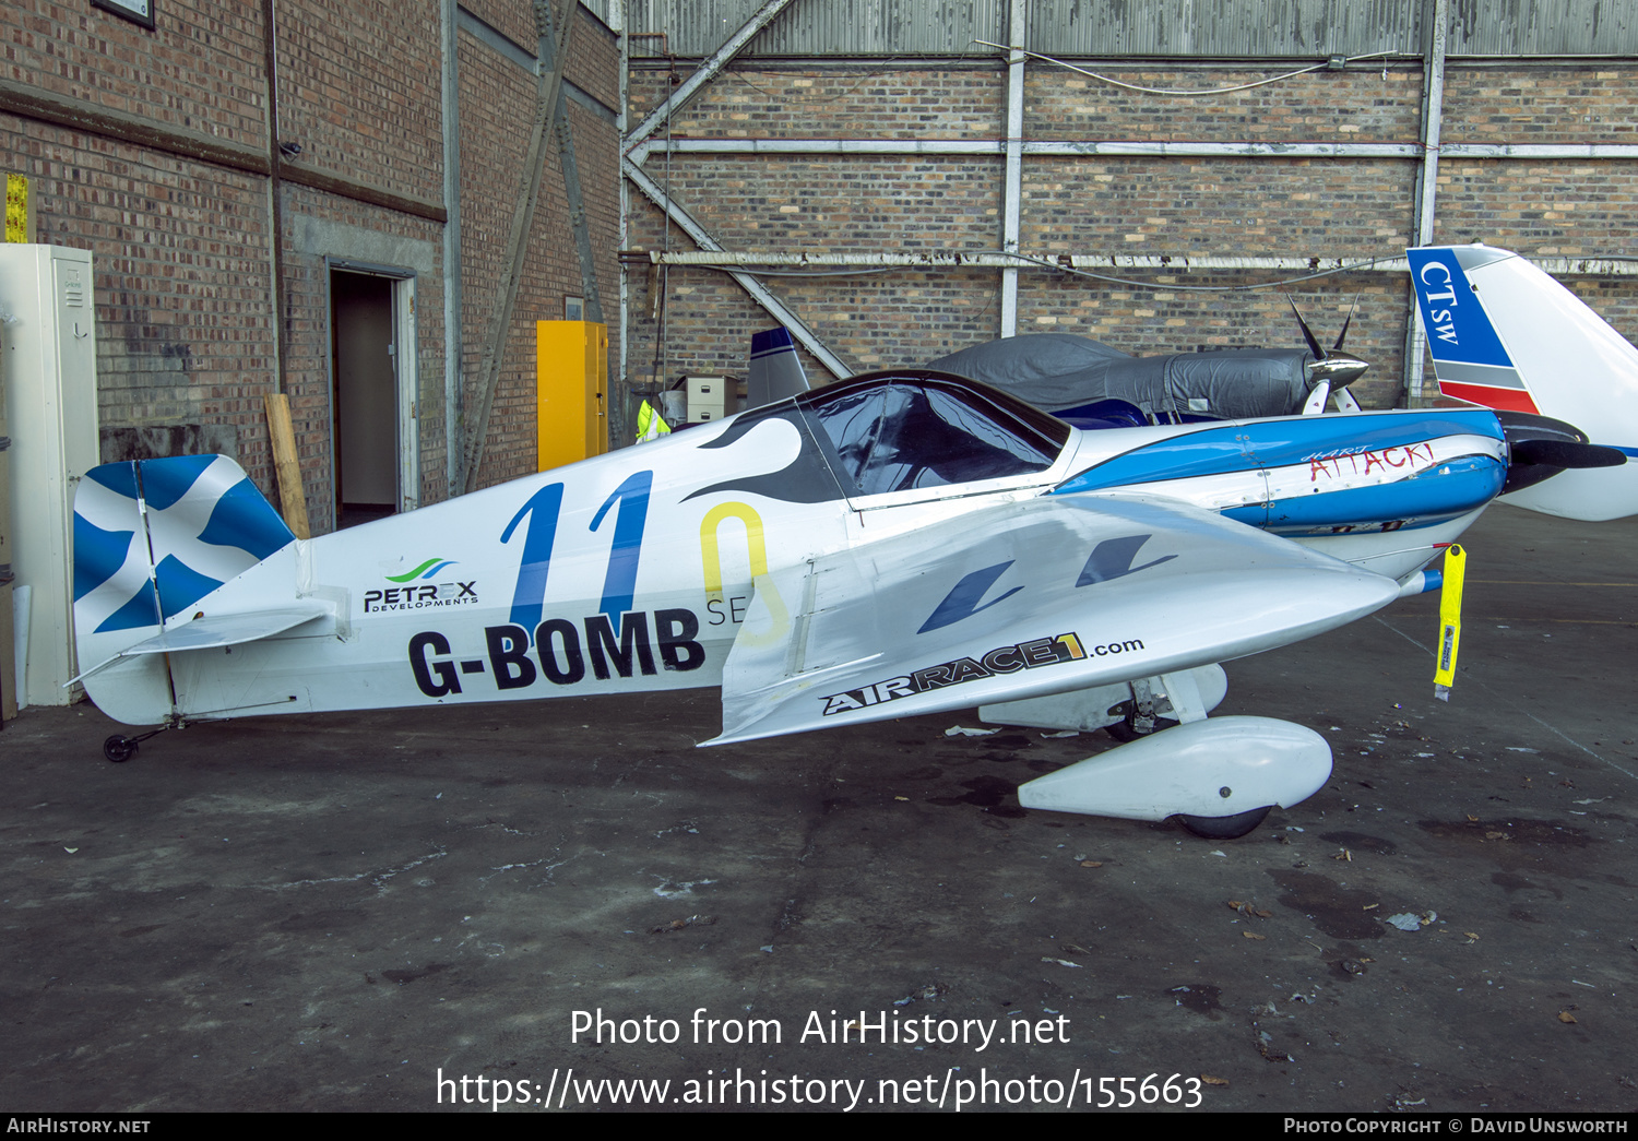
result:
[[[532,52],[529,0],[467,7]],[[118,452],[105,458],[167,439],[136,429],[195,426],[236,450],[272,496],[262,398],[282,383],[310,517],[318,532],[331,527],[326,255],[351,257],[414,275],[419,496],[444,498],[459,457],[447,447],[444,362],[454,331],[444,327],[444,224],[436,219],[444,205],[441,0],[278,0],[280,141],[301,152],[278,190],[277,321],[262,5],[164,0],[156,8],[157,26],[146,29],[88,0],[0,5],[0,79],[25,100],[0,105],[0,169],[31,178],[39,241],[95,255],[100,416],[105,449]],[[568,75],[611,108],[619,98],[618,59],[614,36],[580,11]],[[457,67],[460,365],[470,411],[506,270],[534,77],[467,34]],[[90,118],[64,126],[26,98],[75,100]],[[618,139],[613,123],[585,108],[573,106],[572,120],[606,316],[618,326]],[[210,152],[208,144],[219,149]],[[303,185],[314,175],[352,188]],[[367,257],[360,249],[395,252]],[[552,164],[505,337],[485,483],[534,470],[534,321],[560,318],[563,295],[581,291],[563,182]]]

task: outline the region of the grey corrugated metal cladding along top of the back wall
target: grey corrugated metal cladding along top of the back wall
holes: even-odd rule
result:
[[[603,5],[600,10],[598,5]],[[609,0],[588,0],[606,11]],[[678,56],[709,56],[760,0],[627,0],[634,33],[663,31]],[[1422,46],[1423,0],[1030,0],[1029,47],[1048,56],[1191,59],[1392,51]],[[750,56],[960,56],[1006,39],[1007,0],[794,0]],[[634,54],[658,54],[639,41]],[[1633,56],[1638,0],[1456,0],[1451,56]]]

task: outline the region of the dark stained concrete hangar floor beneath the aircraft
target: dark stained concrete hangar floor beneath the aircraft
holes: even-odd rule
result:
[[[95,709],[26,710],[0,1103],[465,1108],[482,1076],[688,1105],[726,1074],[729,1105],[1050,1108],[1178,1074],[1217,1110],[1631,1110],[1638,522],[1495,507],[1469,550],[1448,706],[1437,596],[1228,666],[1220,712],[1337,753],[1237,841],[1027,814],[1016,784],[1112,742],[943,735],[975,714],[695,750],[698,691],[249,719],[110,764]],[[835,1041],[860,1012],[899,1041]]]

